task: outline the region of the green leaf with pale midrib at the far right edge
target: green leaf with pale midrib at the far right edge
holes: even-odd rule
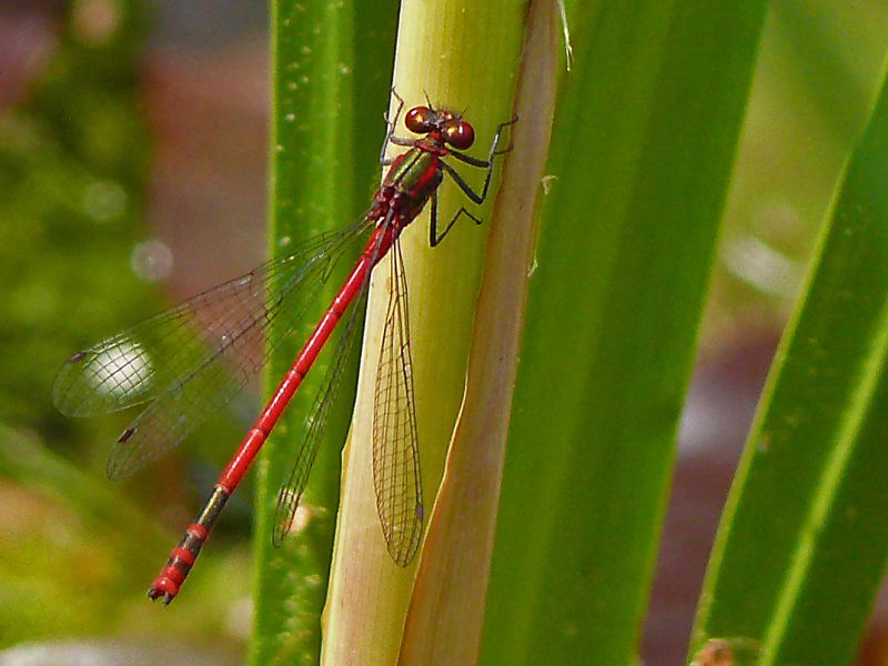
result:
[[[888,83],[845,172],[719,528],[695,647],[846,664],[888,557]]]

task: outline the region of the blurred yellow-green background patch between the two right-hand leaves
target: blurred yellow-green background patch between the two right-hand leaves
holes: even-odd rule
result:
[[[704,346],[777,330],[878,84],[878,2],[769,4],[723,222]]]

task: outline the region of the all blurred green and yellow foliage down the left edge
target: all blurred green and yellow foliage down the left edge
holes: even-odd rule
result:
[[[236,647],[239,632],[224,626],[231,588],[216,581],[244,587],[243,554],[194,576],[195,602],[208,586],[202,604],[229,599],[215,615],[189,613],[186,602],[173,614],[148,604],[147,576],[172,535],[99,472],[131,414],[72,420],[51,403],[56,372],[73,351],[161,306],[131,265],[147,234],[148,13],[117,0],[22,11],[42,12],[49,53],[0,109],[0,424],[16,428],[0,430],[0,644],[210,632],[218,647]]]

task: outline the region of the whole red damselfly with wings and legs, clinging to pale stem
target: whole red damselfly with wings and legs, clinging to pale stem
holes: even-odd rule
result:
[[[465,154],[474,130],[462,114],[446,109],[414,107],[405,127],[420,138],[394,134],[404,102],[397,99],[394,120],[380,157],[389,167],[370,210],[343,230],[312,239],[283,259],[273,260],[153,316],[92,347],[78,352],[56,379],[53,400],[63,414],[89,416],[148,404],[118,438],[108,460],[108,476],[130,476],[178,445],[199,424],[231,400],[264,364],[265,333],[272,325],[293,332],[320,293],[336,261],[357,239],[370,234],[352,272],[296,356],[258,421],[222,472],[210,497],[155,578],[149,596],[169,604],[179,593],[222,508],[238,487],[290,398],[299,389],[339,321],[354,303],[363,303],[370,274],[392,255],[389,307],[377,367],[373,417],[373,474],[376,506],[392,559],[406,566],[420,545],[423,502],[416,415],[413,396],[407,291],[401,232],[431,202],[430,245],[447,234],[461,215],[480,223],[465,208],[443,229],[437,225],[437,188],[445,175],[474,203],[487,195],[501,123],[486,160]],[[386,159],[390,143],[407,150]],[[445,161],[452,158],[486,170],[481,191],[473,190]],[[307,432],[278,502],[274,543],[290,531],[321,441],[321,433],[342,379],[360,307],[354,307],[334,351],[307,420]],[[281,337],[281,336],[278,336]]]

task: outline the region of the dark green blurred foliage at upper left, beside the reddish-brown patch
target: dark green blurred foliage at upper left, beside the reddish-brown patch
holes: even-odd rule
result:
[[[101,37],[77,4],[60,12],[44,71],[0,111],[0,420],[67,443],[92,426],[52,410],[58,366],[153,301],[129,265],[148,175],[137,98],[145,14],[113,7]]]

